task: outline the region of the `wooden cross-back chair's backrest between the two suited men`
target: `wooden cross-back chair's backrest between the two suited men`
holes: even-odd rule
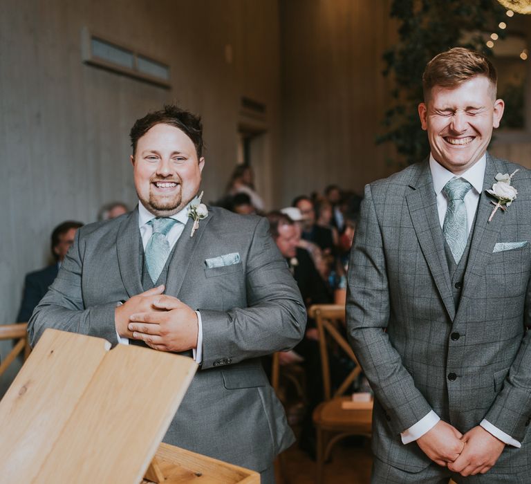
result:
[[[319,350],[321,353],[321,366],[323,372],[323,388],[325,400],[343,395],[352,382],[360,375],[361,368],[357,358],[342,335],[340,328],[345,325],[345,306],[339,304],[314,304],[310,306],[308,315],[315,319],[317,330],[319,331]],[[340,348],[355,364],[343,382],[339,384],[337,390],[332,394],[330,378],[330,348]]]

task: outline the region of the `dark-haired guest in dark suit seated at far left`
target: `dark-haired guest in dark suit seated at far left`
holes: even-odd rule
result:
[[[26,281],[24,283],[24,295],[20,304],[19,314],[17,315],[18,322],[28,322],[33,313],[35,306],[48,291],[51,283],[53,283],[57,276],[57,271],[68,252],[68,249],[74,242],[75,232],[82,227],[81,222],[66,221],[63,222],[52,232],[52,255],[55,263],[44,269],[37,270],[26,274]]]

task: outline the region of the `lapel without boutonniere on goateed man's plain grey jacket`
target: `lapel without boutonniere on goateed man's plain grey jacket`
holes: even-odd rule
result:
[[[124,218],[116,237],[120,276],[129,297],[144,292],[140,280],[140,230],[138,229],[138,207]]]

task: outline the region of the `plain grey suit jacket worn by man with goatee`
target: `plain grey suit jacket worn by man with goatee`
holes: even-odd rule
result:
[[[210,208],[192,238],[191,228],[189,219],[169,262],[165,294],[201,312],[203,364],[164,440],[261,471],[293,435],[259,357],[299,342],[304,304],[265,218]],[[142,292],[140,247],[138,210],[78,230],[30,319],[31,344],[50,327],[116,344],[116,303]],[[239,263],[205,263],[234,252]]]

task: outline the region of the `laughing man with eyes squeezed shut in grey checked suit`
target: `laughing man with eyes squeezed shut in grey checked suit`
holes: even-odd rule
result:
[[[529,483],[530,171],[486,151],[504,108],[488,59],[451,49],[423,84],[429,159],[366,186],[349,264],[373,482]]]

